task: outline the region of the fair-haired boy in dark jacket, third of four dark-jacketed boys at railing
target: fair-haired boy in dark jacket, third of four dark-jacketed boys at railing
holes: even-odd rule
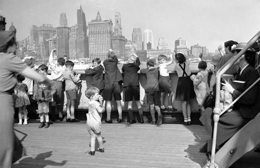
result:
[[[138,107],[138,113],[140,117],[140,123],[143,122],[142,118],[142,108],[140,103],[140,88],[138,80],[138,70],[140,65],[140,59],[137,55],[132,52],[128,59],[129,63],[123,64],[122,71],[124,72],[123,76],[123,88],[124,88],[124,101],[128,102],[128,115],[130,117],[129,124],[136,123],[132,115],[132,97],[134,98],[136,105]]]

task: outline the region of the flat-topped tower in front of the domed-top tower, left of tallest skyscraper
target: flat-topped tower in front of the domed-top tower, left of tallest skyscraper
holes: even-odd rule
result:
[[[57,26],[57,58],[63,58],[64,55],[69,56],[68,47],[68,26]]]

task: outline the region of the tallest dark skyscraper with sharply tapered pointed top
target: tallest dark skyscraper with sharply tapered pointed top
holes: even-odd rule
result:
[[[77,40],[76,40],[76,58],[88,58],[88,37],[86,36],[86,18],[85,13],[80,9],[77,9]]]

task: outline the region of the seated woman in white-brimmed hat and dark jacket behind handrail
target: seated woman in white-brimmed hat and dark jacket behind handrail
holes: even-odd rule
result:
[[[239,43],[231,50],[237,55],[246,46],[247,43]],[[235,76],[235,80],[245,81],[244,90],[253,84],[259,78],[258,72],[254,68],[255,52],[248,49],[234,63],[241,69]],[[221,147],[230,139],[239,129],[253,119],[260,112],[260,88],[259,82],[245,93],[233,106],[233,110],[225,112],[219,118],[217,124],[216,145]],[[221,83],[221,88],[232,94],[235,100],[242,91],[233,89],[229,83]],[[206,108],[203,115],[199,118],[204,125],[206,132],[212,137],[213,135],[213,108]],[[216,149],[219,149],[216,146]]]

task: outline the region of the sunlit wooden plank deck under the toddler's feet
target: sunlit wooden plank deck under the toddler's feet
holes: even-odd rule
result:
[[[27,156],[12,168],[201,168],[207,159],[198,151],[209,136],[199,125],[102,122],[104,153],[94,156],[88,155],[85,121],[57,121],[47,129],[38,126],[35,120],[14,125]],[[260,153],[251,151],[232,168],[259,167]]]

